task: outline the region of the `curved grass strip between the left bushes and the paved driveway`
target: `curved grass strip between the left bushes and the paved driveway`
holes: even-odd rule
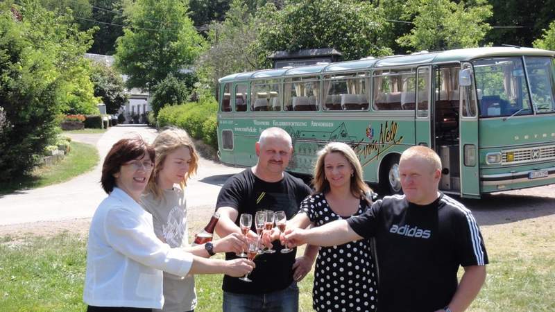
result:
[[[92,170],[98,162],[99,153],[96,147],[72,141],[71,152],[61,162],[53,166],[37,168],[31,175],[22,177],[10,184],[0,184],[0,194],[65,182],[72,177]]]

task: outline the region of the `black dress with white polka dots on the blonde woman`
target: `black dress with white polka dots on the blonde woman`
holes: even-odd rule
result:
[[[366,209],[361,200],[355,216]],[[344,219],[335,214],[322,193],[302,201],[300,211],[315,226]],[[316,311],[375,311],[377,283],[370,241],[362,239],[339,246],[321,247],[314,270],[312,307]]]

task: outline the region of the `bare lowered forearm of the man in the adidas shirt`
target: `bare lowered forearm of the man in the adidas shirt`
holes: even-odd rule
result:
[[[486,280],[486,266],[466,266],[459,288],[451,299],[448,307],[452,312],[465,311],[478,295]],[[442,311],[442,310],[438,310]]]

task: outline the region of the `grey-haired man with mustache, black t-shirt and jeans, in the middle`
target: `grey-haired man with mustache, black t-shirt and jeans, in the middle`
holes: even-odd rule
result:
[[[262,131],[255,150],[257,164],[231,177],[219,193],[216,209],[220,220],[216,233],[220,237],[241,232],[241,214],[253,216],[251,229],[255,229],[257,211],[282,210],[289,220],[311,191],[305,182],[285,172],[293,153],[291,137],[285,130],[268,128]],[[256,234],[252,235],[256,237]],[[296,281],[307,274],[312,262],[307,257],[295,259],[296,250],[282,253],[282,248],[279,241],[275,242],[275,252],[257,257],[256,270],[249,275],[252,282],[228,275],[223,277],[224,312],[298,311]],[[234,253],[225,254],[225,259],[236,257]]]

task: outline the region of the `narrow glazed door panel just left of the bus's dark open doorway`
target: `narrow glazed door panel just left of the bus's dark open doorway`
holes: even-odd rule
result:
[[[418,67],[416,70],[416,119],[414,123],[415,144],[432,148],[432,128],[430,126],[429,103],[432,83],[431,69]]]

